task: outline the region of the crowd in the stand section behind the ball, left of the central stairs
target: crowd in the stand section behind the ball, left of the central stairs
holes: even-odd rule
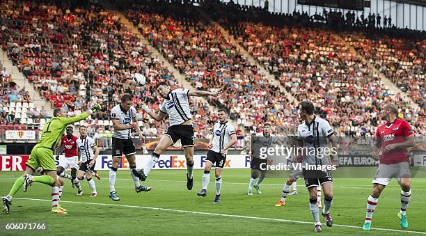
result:
[[[155,124],[141,104],[158,109],[162,98],[153,88],[159,81],[167,81],[173,88],[180,86],[116,15],[98,5],[3,1],[0,20],[3,50],[52,108],[62,107],[68,116],[77,116],[95,102],[103,105],[104,111],[95,113],[89,124],[108,120],[123,93],[133,95],[139,120]],[[132,85],[134,72],[147,77],[144,88]],[[199,107],[210,115],[208,109]],[[197,118],[196,131],[210,121]]]

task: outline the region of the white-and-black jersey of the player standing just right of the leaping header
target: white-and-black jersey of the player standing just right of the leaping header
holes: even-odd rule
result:
[[[230,136],[235,134],[235,128],[228,120],[225,123],[216,123],[213,128],[213,141],[212,150],[213,152],[222,152],[230,141]]]

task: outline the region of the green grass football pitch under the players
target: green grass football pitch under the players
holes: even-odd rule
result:
[[[98,197],[90,197],[87,181],[81,181],[84,195],[77,196],[69,180],[61,205],[68,214],[50,212],[51,188],[33,183],[13,199],[10,214],[1,214],[1,235],[28,235],[29,230],[6,230],[6,223],[45,223],[46,230],[31,230],[32,234],[54,235],[308,235],[313,234],[308,191],[303,180],[297,182],[299,194],[288,196],[286,205],[275,207],[280,199],[285,179],[266,178],[262,194],[247,196],[250,170],[224,169],[221,203],[214,205],[214,171],[210,175],[207,197],[197,196],[203,171],[194,171],[194,189],[187,190],[186,171],[153,170],[145,185],[149,192],[136,194],[129,171],[118,171],[116,191],[120,201],[113,202],[109,194],[109,171],[99,171],[95,179]],[[8,194],[20,172],[0,172],[0,194]],[[374,175],[374,172],[372,173]],[[372,230],[361,230],[367,198],[372,190],[371,178],[335,179],[331,216],[333,227],[322,221],[322,233],[327,235],[418,235],[426,234],[426,179],[413,179],[413,194],[407,209],[409,228],[403,230],[397,219],[400,210],[400,189],[390,182],[379,198],[374,211]]]

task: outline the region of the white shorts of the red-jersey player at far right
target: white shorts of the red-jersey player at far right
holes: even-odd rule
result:
[[[411,178],[409,163],[379,164],[372,183],[386,186],[393,178],[397,180],[398,184],[400,178]]]

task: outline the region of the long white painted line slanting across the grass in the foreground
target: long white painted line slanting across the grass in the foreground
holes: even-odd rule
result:
[[[20,200],[40,200],[40,201],[51,201],[46,199],[38,199],[38,198],[14,198],[14,199],[20,199]],[[249,216],[242,216],[238,214],[219,214],[219,213],[212,213],[212,212],[195,212],[195,211],[189,211],[189,210],[178,210],[178,209],[169,209],[169,208],[161,208],[161,207],[143,207],[139,205],[120,205],[120,204],[111,204],[111,203],[84,203],[84,202],[74,202],[70,200],[61,200],[62,203],[74,203],[74,204],[86,204],[86,205],[107,205],[107,206],[117,206],[117,207],[131,207],[131,208],[140,208],[145,210],[162,210],[166,212],[181,212],[181,213],[191,213],[191,214],[205,214],[210,216],[219,216],[219,217],[233,217],[233,218],[243,218],[243,219],[258,219],[258,220],[265,220],[265,221],[280,221],[280,222],[287,222],[287,223],[304,223],[304,224],[310,224],[312,225],[313,222],[308,221],[294,221],[294,220],[288,220],[288,219],[276,219],[276,218],[265,218],[265,217],[249,217]],[[361,233],[361,227],[360,226],[347,226],[347,225],[340,225],[340,224],[333,224],[333,226],[338,226],[342,228],[357,228],[359,229],[359,232]],[[390,231],[390,232],[400,232],[400,233],[418,233],[426,235],[426,232],[420,232],[420,231],[410,231],[410,230],[394,230],[391,228],[371,228],[372,230],[382,230],[382,231]],[[364,231],[362,231],[364,232]]]

